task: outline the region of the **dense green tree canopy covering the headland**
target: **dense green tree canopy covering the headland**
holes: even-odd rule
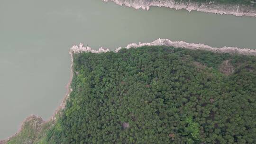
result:
[[[74,54],[50,144],[256,144],[256,57],[166,46]]]

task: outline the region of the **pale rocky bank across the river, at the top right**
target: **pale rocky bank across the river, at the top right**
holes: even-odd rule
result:
[[[256,17],[256,9],[245,5],[223,5],[215,3],[196,3],[196,2],[175,2],[175,0],[103,0],[113,1],[119,5],[133,7],[135,9],[149,10],[150,6],[167,7],[171,9],[186,9],[188,11],[197,10],[216,14],[227,14],[235,16]],[[182,0],[181,0],[182,1]]]

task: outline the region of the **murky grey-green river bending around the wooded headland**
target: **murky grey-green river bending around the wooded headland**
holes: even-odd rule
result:
[[[73,44],[113,50],[157,38],[255,49],[256,18],[101,0],[1,0],[0,139],[31,114],[51,117],[66,92]]]

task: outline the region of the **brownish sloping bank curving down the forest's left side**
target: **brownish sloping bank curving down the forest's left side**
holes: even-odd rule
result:
[[[60,106],[55,110],[55,113],[52,115],[52,117],[46,121],[44,121],[42,119],[42,117],[39,117],[36,115],[31,115],[31,116],[27,117],[24,121],[22,121],[20,128],[18,129],[18,131],[15,134],[8,137],[6,140],[0,140],[0,144],[9,144],[9,141],[13,141],[14,138],[17,138],[23,130],[30,129],[30,131],[32,131],[33,135],[35,137],[37,137],[37,135],[39,133],[41,133],[41,135],[43,135],[42,134],[43,130],[49,129],[50,127],[55,125],[55,121],[56,121],[57,117],[59,117],[59,115],[61,114],[61,110],[63,110],[65,108],[66,101],[69,98],[70,92],[72,91],[71,83],[73,80],[73,52],[69,51],[69,54],[71,56],[71,66],[70,66],[71,76],[70,76],[68,84],[66,85],[67,92],[64,96],[64,99],[61,101]],[[22,135],[21,135],[21,137],[22,137]],[[26,141],[26,140],[24,140],[24,141]],[[31,141],[31,139],[27,140],[26,142],[28,142],[28,141]],[[15,140],[13,143],[12,142],[10,142],[10,143],[15,144]]]

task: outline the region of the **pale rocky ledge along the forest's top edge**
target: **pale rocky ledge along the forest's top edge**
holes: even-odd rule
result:
[[[230,53],[230,54],[243,54],[243,55],[256,55],[256,50],[248,49],[248,48],[238,48],[238,47],[211,47],[209,45],[204,44],[194,44],[194,43],[187,43],[183,41],[171,41],[169,39],[157,39],[151,43],[132,43],[126,46],[127,49],[129,48],[137,48],[141,46],[155,46],[155,45],[165,45],[165,46],[173,46],[175,48],[187,48],[187,49],[193,49],[193,50],[207,50],[215,53]],[[121,47],[117,48],[115,50],[116,53],[119,52]],[[106,53],[109,52],[109,49],[103,49],[102,47],[97,50],[92,50],[89,46],[83,46],[82,43],[80,43],[78,46],[73,45],[71,48],[71,51],[73,53],[82,53],[82,52],[91,52],[91,53]]]

